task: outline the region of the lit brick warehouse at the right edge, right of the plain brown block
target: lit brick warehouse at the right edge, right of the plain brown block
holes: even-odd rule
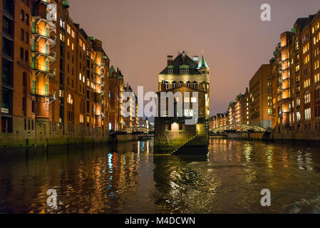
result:
[[[274,51],[274,138],[319,140],[320,11],[299,18]],[[277,91],[277,92],[276,92]]]

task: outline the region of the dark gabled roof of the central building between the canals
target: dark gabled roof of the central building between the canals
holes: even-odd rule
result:
[[[197,71],[197,63],[185,53],[179,53],[179,55],[172,61],[171,65],[163,69],[160,74],[167,74],[168,68],[173,68],[173,74],[180,74],[180,66],[183,66],[184,68],[186,68],[185,66],[189,66],[189,74],[201,74],[199,71]]]

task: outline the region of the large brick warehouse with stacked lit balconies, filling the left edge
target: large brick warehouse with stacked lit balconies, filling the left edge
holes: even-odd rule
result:
[[[61,0],[0,2],[0,146],[108,140],[110,110],[120,108],[110,105],[120,95],[109,91],[110,59],[68,8]]]

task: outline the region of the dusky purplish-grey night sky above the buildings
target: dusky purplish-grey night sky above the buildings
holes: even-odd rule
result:
[[[272,21],[260,20],[270,4]],[[134,91],[158,90],[167,55],[201,55],[210,67],[211,115],[227,111],[263,63],[279,35],[299,17],[316,14],[319,0],[71,0],[70,16],[103,41],[113,66]]]

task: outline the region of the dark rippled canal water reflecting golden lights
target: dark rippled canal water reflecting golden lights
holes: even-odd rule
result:
[[[320,213],[319,147],[212,138],[209,150],[153,155],[153,140],[1,150],[0,213]]]

